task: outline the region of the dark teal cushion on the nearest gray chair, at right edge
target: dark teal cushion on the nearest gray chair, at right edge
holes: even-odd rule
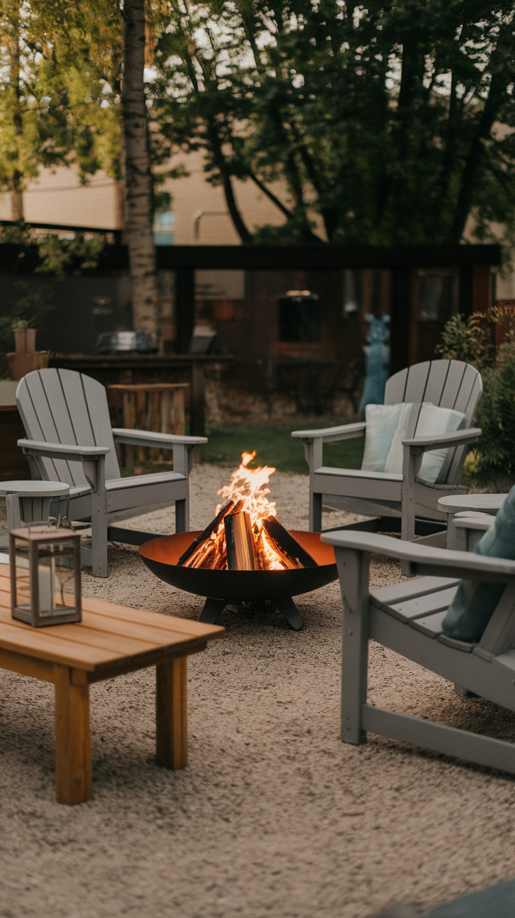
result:
[[[474,551],[490,558],[515,560],[515,486]],[[476,644],[481,640],[505,588],[505,583],[462,580],[442,621],[442,632],[457,641]]]

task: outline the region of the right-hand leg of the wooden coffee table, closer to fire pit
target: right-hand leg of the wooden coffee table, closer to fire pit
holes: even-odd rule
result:
[[[165,768],[187,765],[187,657],[156,667],[156,757]]]

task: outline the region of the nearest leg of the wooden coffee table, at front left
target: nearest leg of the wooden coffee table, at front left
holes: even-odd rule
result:
[[[89,685],[83,670],[54,664],[55,787],[58,803],[84,803],[91,787]]]

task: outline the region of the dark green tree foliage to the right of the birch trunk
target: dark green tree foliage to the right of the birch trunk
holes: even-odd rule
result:
[[[152,113],[172,149],[206,152],[242,241],[457,242],[471,215],[510,238],[514,30],[511,2],[171,0]],[[235,177],[282,227],[245,226]]]

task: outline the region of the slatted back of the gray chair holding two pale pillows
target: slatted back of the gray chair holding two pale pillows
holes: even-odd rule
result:
[[[466,429],[472,427],[482,392],[481,374],[471,364],[461,360],[428,360],[390,376],[386,382],[385,405],[425,401],[441,408],[463,411]],[[465,455],[466,446],[449,451],[442,470],[442,480],[446,484],[458,484]]]

